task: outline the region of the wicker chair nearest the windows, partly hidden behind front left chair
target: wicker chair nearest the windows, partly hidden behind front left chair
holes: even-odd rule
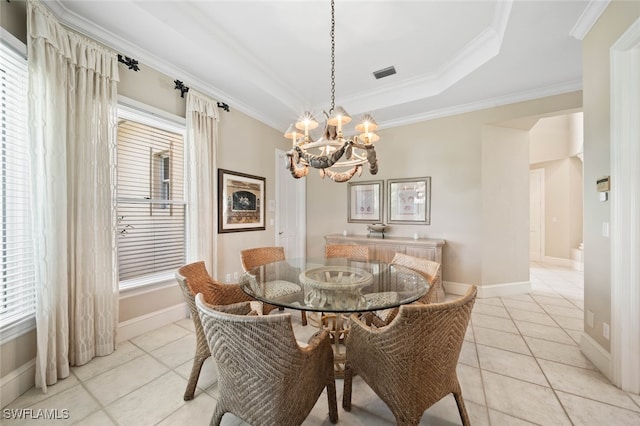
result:
[[[176,280],[180,285],[182,294],[184,296],[187,305],[191,311],[191,319],[196,331],[196,351],[193,358],[193,366],[191,367],[191,375],[189,376],[189,382],[187,383],[187,389],[184,392],[184,400],[188,401],[193,399],[193,394],[198,384],[198,378],[200,377],[200,370],[202,364],[211,355],[209,353],[209,345],[207,339],[202,331],[202,324],[200,323],[200,316],[195,304],[195,295],[202,293],[204,300],[207,303],[215,305],[228,305],[231,303],[238,303],[244,301],[252,301],[244,291],[240,289],[237,284],[222,284],[211,278],[207,272],[207,268],[204,262],[194,262],[182,266],[176,271]],[[267,314],[275,306],[263,305],[258,301],[251,302],[254,304],[254,309],[261,311],[261,313]]]

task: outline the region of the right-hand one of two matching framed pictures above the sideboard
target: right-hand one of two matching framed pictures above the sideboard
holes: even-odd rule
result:
[[[389,223],[431,221],[431,177],[389,179]]]

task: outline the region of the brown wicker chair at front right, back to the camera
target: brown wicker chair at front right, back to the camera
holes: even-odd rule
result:
[[[357,374],[389,407],[398,425],[417,425],[425,410],[450,393],[462,424],[469,425],[456,367],[476,293],[472,286],[457,300],[403,305],[383,328],[369,327],[352,315],[343,408],[351,411]]]

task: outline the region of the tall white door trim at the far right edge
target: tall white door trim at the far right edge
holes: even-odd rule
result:
[[[640,19],[610,50],[611,381],[640,393]]]

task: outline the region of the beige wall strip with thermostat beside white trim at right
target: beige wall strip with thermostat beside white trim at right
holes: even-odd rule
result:
[[[640,17],[640,2],[612,1],[583,41],[584,91],[584,308],[594,313],[585,332],[609,351],[602,323],[611,323],[611,251],[602,223],[611,220],[609,202],[601,202],[596,180],[611,174],[609,49]],[[586,315],[585,315],[586,318]]]

